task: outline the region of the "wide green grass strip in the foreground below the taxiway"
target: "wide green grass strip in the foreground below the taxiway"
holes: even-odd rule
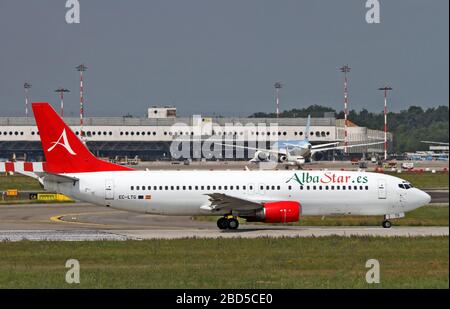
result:
[[[380,284],[365,282],[368,259]],[[0,288],[448,288],[448,269],[448,237],[0,243]]]

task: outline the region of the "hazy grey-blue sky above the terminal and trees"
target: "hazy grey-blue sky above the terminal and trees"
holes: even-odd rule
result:
[[[381,1],[381,23],[365,20],[365,0],[80,0],[81,23],[67,24],[65,0],[0,0],[0,116],[24,115],[33,101],[72,92],[78,115],[85,63],[86,116],[142,115],[151,105],[179,114],[247,116],[310,104],[343,108],[448,105],[449,1]]]

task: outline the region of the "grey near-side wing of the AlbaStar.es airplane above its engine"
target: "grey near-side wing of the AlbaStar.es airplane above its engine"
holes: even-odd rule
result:
[[[263,206],[260,203],[237,198],[234,196],[230,196],[223,193],[209,193],[206,194],[209,196],[209,201],[211,202],[211,206],[203,207],[209,208],[209,210],[227,210],[227,211],[252,211],[262,208]]]

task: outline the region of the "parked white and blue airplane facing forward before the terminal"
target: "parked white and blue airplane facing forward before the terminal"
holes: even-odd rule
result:
[[[339,142],[327,143],[327,144],[319,144],[312,145],[309,142],[309,127],[311,123],[311,117],[308,115],[308,120],[306,123],[305,129],[305,138],[303,140],[280,140],[272,144],[271,149],[263,149],[263,148],[254,148],[248,146],[239,146],[239,145],[231,145],[224,143],[217,143],[226,147],[236,147],[243,148],[248,150],[254,150],[255,154],[253,158],[250,160],[251,163],[259,163],[259,162],[269,162],[272,157],[275,158],[276,161],[280,163],[285,163],[287,165],[295,165],[301,167],[303,164],[310,162],[314,157],[314,154],[318,152],[324,152],[328,150],[337,150],[337,149],[345,149],[352,147],[364,147],[371,145],[380,145],[384,142],[371,142],[364,144],[354,144],[347,146],[338,146]]]

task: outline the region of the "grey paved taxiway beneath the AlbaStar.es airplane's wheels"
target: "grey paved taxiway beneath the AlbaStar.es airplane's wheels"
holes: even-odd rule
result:
[[[447,194],[448,197],[448,194]],[[321,236],[448,236],[448,227],[299,227],[245,224],[220,231],[185,216],[135,214],[86,203],[0,206],[0,241]]]

